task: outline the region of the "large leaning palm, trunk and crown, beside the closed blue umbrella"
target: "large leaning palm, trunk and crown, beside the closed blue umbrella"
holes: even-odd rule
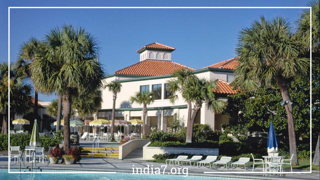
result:
[[[235,69],[236,86],[255,89],[258,86],[279,86],[283,100],[291,102],[288,84],[292,78],[306,75],[309,61],[300,58],[303,42],[291,32],[290,24],[281,17],[272,21],[260,17],[250,28],[239,33]],[[287,112],[292,164],[298,164],[297,145],[292,116],[292,105],[285,103]]]

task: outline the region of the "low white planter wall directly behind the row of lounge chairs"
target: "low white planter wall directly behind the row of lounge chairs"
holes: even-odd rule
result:
[[[203,155],[212,155],[218,156],[219,149],[209,149],[209,148],[173,148],[173,147],[148,147],[148,144],[143,146],[143,160],[154,160],[152,157],[155,154],[203,154]]]

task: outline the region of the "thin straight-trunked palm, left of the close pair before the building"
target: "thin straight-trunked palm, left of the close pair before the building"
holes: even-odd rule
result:
[[[194,79],[196,76],[192,74],[192,71],[188,68],[186,69],[180,69],[176,70],[173,73],[173,78],[169,79],[167,81],[169,92],[172,94],[169,96],[170,102],[174,104],[176,100],[178,100],[178,93],[181,95],[183,94],[186,85],[188,84],[188,81],[191,79]],[[184,100],[188,103],[188,117],[187,117],[187,127],[191,126],[193,127],[193,123],[191,122],[191,99],[188,95],[183,96]],[[192,130],[191,130],[192,131]],[[191,133],[192,137],[192,133]],[[186,136],[186,142],[191,142],[192,139],[189,138],[189,136]]]

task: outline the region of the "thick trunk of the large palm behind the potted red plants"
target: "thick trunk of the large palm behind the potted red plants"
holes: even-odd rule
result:
[[[66,92],[63,95],[63,114],[64,114],[64,123],[63,123],[63,150],[68,152],[70,148],[70,115],[71,115],[71,104],[72,97],[70,91]]]

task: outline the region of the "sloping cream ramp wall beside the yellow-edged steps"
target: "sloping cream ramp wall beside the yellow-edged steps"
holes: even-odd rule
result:
[[[119,146],[119,160],[123,160],[131,151],[142,148],[149,143],[148,139],[134,139]]]

